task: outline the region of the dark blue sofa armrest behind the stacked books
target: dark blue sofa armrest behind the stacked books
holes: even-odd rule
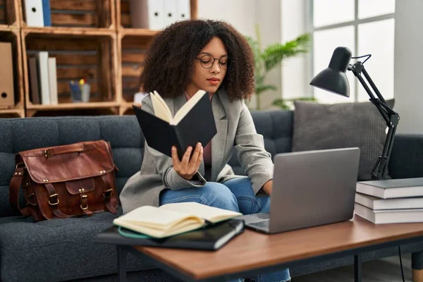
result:
[[[396,135],[388,169],[394,179],[423,177],[423,135]]]

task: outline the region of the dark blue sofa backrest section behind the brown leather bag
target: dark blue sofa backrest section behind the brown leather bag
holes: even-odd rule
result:
[[[123,180],[140,170],[144,149],[144,136],[135,116],[0,118],[0,140],[0,217],[19,215],[8,203],[8,185],[18,152],[106,140],[111,144],[114,162],[119,168],[116,181],[120,192]]]

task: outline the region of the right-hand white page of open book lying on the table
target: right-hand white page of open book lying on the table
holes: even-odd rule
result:
[[[205,204],[197,202],[181,202],[173,204],[164,204],[159,209],[167,209],[181,214],[190,214],[197,216],[200,219],[207,219],[208,221],[217,222],[223,219],[231,219],[235,216],[242,216],[240,212],[232,212],[226,209],[219,209],[217,207],[209,207]]]

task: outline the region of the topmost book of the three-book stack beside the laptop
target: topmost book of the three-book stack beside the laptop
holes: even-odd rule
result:
[[[423,197],[423,178],[360,181],[356,191],[382,199]]]

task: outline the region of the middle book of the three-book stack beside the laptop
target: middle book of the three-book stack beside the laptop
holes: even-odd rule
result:
[[[356,193],[355,202],[369,209],[423,209],[423,197],[381,199]]]

